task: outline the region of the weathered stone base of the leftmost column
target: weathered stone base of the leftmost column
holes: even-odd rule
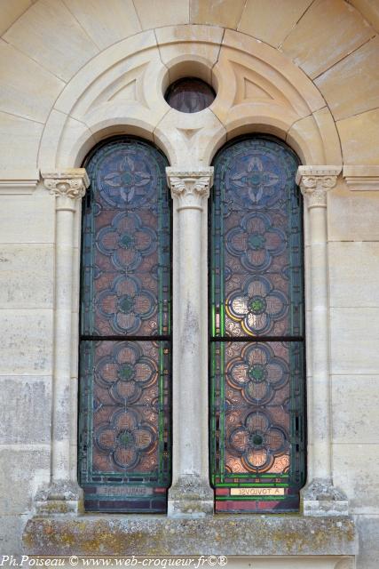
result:
[[[83,513],[83,490],[75,482],[58,480],[36,494],[37,516]]]

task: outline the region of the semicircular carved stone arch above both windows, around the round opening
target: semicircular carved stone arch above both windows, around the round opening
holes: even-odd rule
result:
[[[209,108],[187,116],[163,98],[184,73],[217,91]],[[99,53],[56,100],[38,165],[77,167],[99,140],[121,132],[154,141],[173,166],[207,166],[225,140],[246,132],[286,140],[303,164],[342,164],[336,124],[304,72],[271,46],[217,27],[160,28],[156,39],[141,32]]]

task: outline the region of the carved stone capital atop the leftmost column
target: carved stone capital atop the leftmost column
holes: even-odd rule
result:
[[[90,184],[85,168],[73,168],[59,172],[42,172],[44,187],[51,196],[79,200]]]

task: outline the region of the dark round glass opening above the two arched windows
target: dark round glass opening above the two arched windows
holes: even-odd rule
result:
[[[215,100],[216,93],[212,87],[201,79],[185,77],[171,84],[166,92],[165,99],[170,107],[182,113],[197,113],[209,107]]]

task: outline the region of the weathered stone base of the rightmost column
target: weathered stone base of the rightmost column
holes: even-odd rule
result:
[[[348,516],[349,502],[330,478],[313,478],[301,493],[304,516]]]

